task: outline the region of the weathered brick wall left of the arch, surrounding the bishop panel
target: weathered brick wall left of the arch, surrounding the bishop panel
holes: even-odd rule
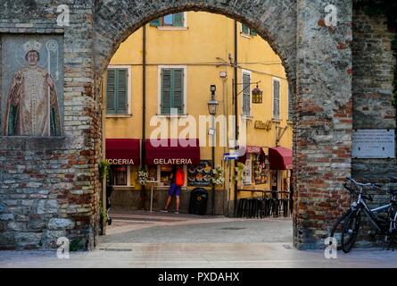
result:
[[[59,4],[70,5],[69,27],[57,25]],[[95,246],[101,125],[91,92],[92,12],[89,0],[0,3],[0,41],[10,33],[64,38],[63,136],[0,137],[0,248],[54,248],[62,236]]]

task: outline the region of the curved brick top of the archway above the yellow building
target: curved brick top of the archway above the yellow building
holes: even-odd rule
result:
[[[145,23],[182,11],[219,13],[258,30],[280,56],[288,78],[296,68],[296,14],[290,1],[101,1],[95,12],[95,68],[104,71],[120,44]],[[120,21],[122,19],[122,21]]]

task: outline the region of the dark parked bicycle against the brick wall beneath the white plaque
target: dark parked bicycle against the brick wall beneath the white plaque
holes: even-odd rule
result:
[[[381,186],[374,183],[360,183],[352,178],[347,178],[346,180],[351,182],[355,188],[347,187],[347,182],[344,183],[344,188],[349,189],[352,198],[357,197],[357,200],[353,200],[349,211],[343,214],[335,223],[331,237],[335,236],[338,225],[343,223],[341,248],[344,253],[349,253],[359,234],[361,215],[365,214],[369,222],[376,229],[376,233],[385,236],[385,243],[390,239],[388,249],[393,247],[395,234],[397,232],[397,190],[388,191],[392,196],[390,204],[369,209],[367,200],[373,201],[373,198],[371,195],[364,195],[364,188],[377,189]],[[356,189],[358,189],[358,191],[356,191]],[[380,216],[378,215],[379,213],[385,213],[387,216]]]

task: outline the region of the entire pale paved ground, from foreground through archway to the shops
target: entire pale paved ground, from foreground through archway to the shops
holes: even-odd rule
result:
[[[245,220],[187,214],[112,214],[92,252],[56,258],[55,251],[0,252],[0,267],[397,267],[397,252],[354,249],[326,259],[324,251],[292,248],[290,219]]]

